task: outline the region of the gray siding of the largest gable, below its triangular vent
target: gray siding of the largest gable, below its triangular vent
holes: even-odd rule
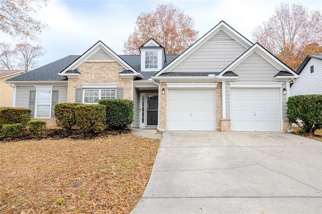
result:
[[[246,51],[238,42],[205,42],[171,72],[220,72]]]

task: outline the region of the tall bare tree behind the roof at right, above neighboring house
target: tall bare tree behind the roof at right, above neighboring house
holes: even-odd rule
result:
[[[253,40],[295,70],[307,55],[321,53],[322,13],[282,3],[275,15],[255,28]]]

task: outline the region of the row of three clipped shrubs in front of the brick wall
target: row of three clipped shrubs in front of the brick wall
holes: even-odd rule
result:
[[[99,133],[106,128],[124,129],[133,122],[133,101],[102,99],[99,104],[58,103],[56,124],[67,132],[75,125],[82,133]]]

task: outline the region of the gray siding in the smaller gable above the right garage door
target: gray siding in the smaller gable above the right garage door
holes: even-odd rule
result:
[[[237,81],[274,81],[279,72],[257,53],[251,54],[232,71],[238,75]]]

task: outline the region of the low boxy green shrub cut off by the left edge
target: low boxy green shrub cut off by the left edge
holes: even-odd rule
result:
[[[5,124],[22,124],[26,126],[30,121],[31,110],[24,108],[5,107],[0,109],[0,128]]]

